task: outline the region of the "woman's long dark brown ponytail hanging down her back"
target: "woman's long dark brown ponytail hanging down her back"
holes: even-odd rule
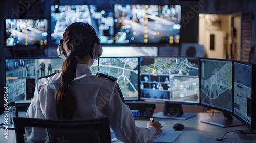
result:
[[[77,60],[74,52],[63,62],[61,87],[55,93],[56,113],[58,118],[71,119],[75,111],[75,100],[69,89],[69,84],[76,77]]]

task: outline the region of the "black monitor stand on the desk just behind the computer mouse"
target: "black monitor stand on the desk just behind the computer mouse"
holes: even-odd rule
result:
[[[154,113],[152,117],[187,120],[188,118],[194,117],[196,115],[196,113],[183,113],[181,104],[165,102],[163,112]]]

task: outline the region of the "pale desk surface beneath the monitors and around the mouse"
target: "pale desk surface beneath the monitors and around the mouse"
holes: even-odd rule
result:
[[[25,112],[19,113],[19,116],[25,116]],[[221,117],[222,113],[215,113],[214,117]],[[181,136],[175,141],[179,142],[219,142],[216,140],[217,137],[223,137],[226,132],[235,131],[235,130],[244,130],[245,132],[251,132],[245,126],[236,126],[236,127],[219,127],[215,125],[210,125],[202,123],[201,120],[208,120],[211,116],[208,113],[197,113],[197,116],[189,118],[187,120],[167,120],[156,118],[159,121],[165,130],[171,130],[175,123],[182,123],[185,128]],[[0,116],[0,123],[3,123],[4,115]],[[140,127],[146,127],[148,121],[136,120],[136,125]],[[0,128],[0,142],[16,142],[15,131],[8,130],[8,139],[4,138],[4,129]],[[254,130],[255,132],[255,130]],[[256,134],[247,134],[246,139],[240,139],[237,133],[228,133],[224,137],[224,142],[255,142]]]

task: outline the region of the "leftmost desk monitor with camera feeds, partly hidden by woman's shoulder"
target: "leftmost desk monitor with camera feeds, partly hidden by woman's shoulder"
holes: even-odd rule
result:
[[[30,103],[39,77],[61,71],[63,59],[50,57],[5,58],[8,102]]]

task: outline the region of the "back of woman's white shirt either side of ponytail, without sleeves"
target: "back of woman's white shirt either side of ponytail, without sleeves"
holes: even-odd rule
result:
[[[46,94],[38,94],[43,114],[47,119],[57,119],[54,94],[61,86],[60,74],[41,79],[38,88]],[[116,82],[101,76],[92,75],[89,66],[77,64],[76,78],[70,83],[69,88],[73,93],[76,110],[73,118],[93,119],[103,118],[106,114],[106,105],[113,93]],[[44,105],[46,105],[44,107]],[[44,113],[45,111],[45,113]]]

